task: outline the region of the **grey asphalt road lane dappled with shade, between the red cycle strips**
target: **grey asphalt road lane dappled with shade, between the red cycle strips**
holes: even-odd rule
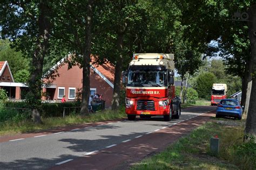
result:
[[[180,119],[164,122],[162,117],[102,123],[82,129],[19,138],[0,143],[0,169],[48,169],[85,155],[175,126],[215,107],[184,109]]]

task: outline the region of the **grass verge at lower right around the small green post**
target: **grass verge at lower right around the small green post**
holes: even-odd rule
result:
[[[208,122],[132,169],[256,169],[256,144],[242,142],[243,123],[228,121]],[[220,138],[217,156],[210,152],[215,134]]]

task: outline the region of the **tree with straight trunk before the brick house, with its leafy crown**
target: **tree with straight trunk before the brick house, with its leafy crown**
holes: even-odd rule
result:
[[[80,113],[89,114],[91,39],[93,29],[94,1],[62,1],[55,5],[53,38],[57,45],[71,53],[69,68],[78,65],[83,68],[82,103]],[[86,9],[86,10],[84,10]]]

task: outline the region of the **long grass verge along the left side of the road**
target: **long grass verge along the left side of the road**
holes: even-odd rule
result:
[[[38,130],[53,129],[61,126],[75,125],[90,122],[100,122],[125,117],[124,108],[113,112],[111,110],[97,111],[89,116],[80,116],[71,114],[63,117],[42,118],[42,124],[34,124],[31,121],[11,122],[6,121],[0,123],[0,136],[11,135],[17,133],[34,132]]]

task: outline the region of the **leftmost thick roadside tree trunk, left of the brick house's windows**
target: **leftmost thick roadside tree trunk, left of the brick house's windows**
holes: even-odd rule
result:
[[[40,1],[38,30],[39,37],[37,47],[32,58],[31,76],[29,80],[29,93],[26,96],[32,108],[32,119],[35,123],[41,123],[41,114],[39,107],[41,105],[41,90],[42,90],[42,74],[44,56],[48,53],[49,37],[50,37],[50,8],[48,1]]]

